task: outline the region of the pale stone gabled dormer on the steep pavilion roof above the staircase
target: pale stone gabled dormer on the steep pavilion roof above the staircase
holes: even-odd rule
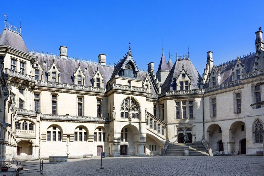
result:
[[[182,65],[182,71],[176,78],[176,90],[189,90],[192,77],[189,77],[184,66]]]

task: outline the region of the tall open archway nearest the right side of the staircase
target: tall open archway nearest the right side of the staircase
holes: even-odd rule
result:
[[[219,151],[219,142],[220,148],[222,147],[222,130],[221,127],[218,124],[211,124],[207,128],[207,143],[209,148],[211,148],[213,151]],[[224,151],[224,145],[223,149],[220,151]]]

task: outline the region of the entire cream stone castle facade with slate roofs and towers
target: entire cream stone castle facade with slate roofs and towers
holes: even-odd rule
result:
[[[214,65],[202,76],[189,54],[158,70],[138,69],[130,44],[114,66],[29,51],[19,28],[0,35],[0,159],[84,154],[161,155],[168,143],[205,143],[210,151],[263,151],[264,48]],[[137,59],[137,58],[135,58]],[[262,104],[261,104],[262,103]],[[251,106],[252,105],[252,106]],[[206,145],[207,144],[207,145]]]

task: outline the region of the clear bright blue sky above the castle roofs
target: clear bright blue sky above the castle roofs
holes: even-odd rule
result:
[[[202,75],[207,51],[214,64],[255,51],[255,32],[264,30],[264,1],[3,1],[0,14],[19,26],[28,49],[97,61],[117,62],[131,50],[140,69],[154,62],[157,70],[169,50],[172,62],[190,52]]]

